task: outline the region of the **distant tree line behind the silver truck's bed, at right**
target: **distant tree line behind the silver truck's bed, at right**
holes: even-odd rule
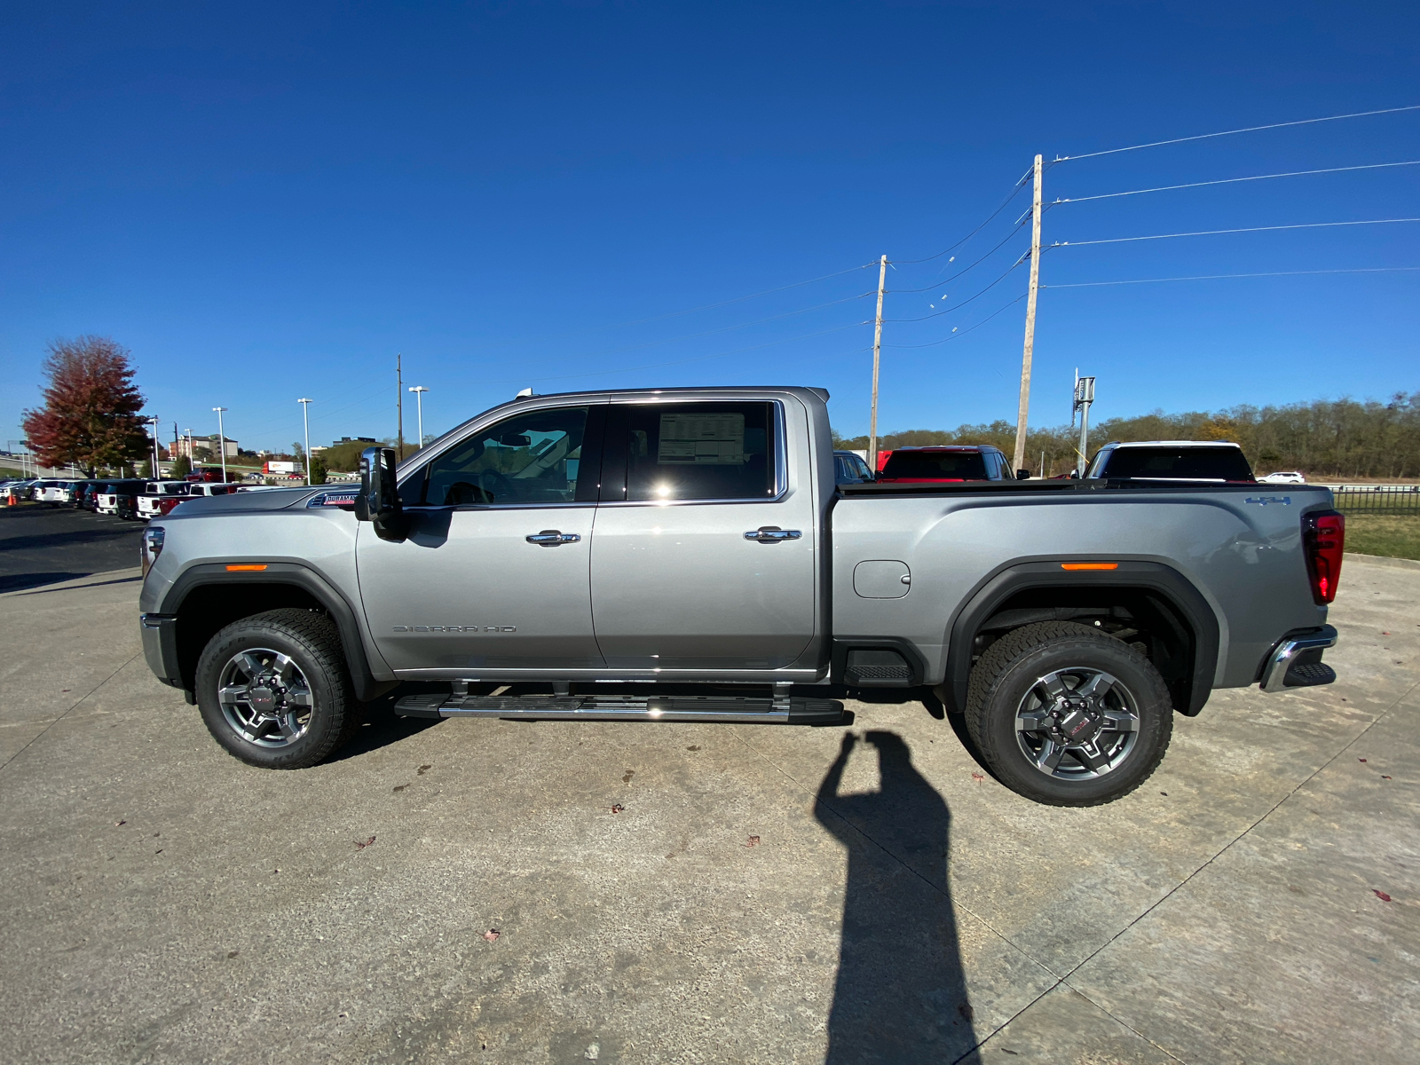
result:
[[[1285,406],[1234,406],[1224,410],[1190,410],[1166,415],[1154,410],[1137,417],[1110,417],[1089,427],[1093,453],[1109,440],[1233,440],[1242,446],[1258,473],[1302,470],[1318,477],[1416,477],[1420,476],[1420,392],[1397,392],[1390,402],[1373,399],[1315,399]],[[1007,456],[1015,450],[1015,426],[998,420],[956,429],[909,429],[886,433],[878,447],[910,447],[950,443],[995,444]],[[1075,466],[1079,430],[1068,425],[1031,429],[1025,436],[1032,474],[1065,473]],[[834,446],[868,447],[866,436],[842,437]]]

